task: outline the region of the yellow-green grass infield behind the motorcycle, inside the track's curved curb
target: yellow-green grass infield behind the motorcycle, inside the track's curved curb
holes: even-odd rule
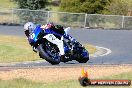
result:
[[[90,54],[96,51],[92,45],[85,45]],[[41,60],[32,51],[25,37],[0,35],[0,63]]]

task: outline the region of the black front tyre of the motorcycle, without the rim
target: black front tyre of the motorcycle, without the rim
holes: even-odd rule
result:
[[[38,50],[39,50],[39,56],[43,59],[45,59],[46,61],[48,61],[49,63],[51,63],[52,65],[56,65],[60,63],[60,58],[59,60],[54,60],[52,57],[50,57],[45,50],[43,49],[43,45],[40,44],[38,46]]]

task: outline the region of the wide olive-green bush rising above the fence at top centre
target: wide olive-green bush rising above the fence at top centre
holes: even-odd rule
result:
[[[68,12],[102,13],[111,0],[61,0],[60,10]]]

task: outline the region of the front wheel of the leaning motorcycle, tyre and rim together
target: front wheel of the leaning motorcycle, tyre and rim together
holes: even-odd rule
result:
[[[51,63],[52,65],[59,64],[60,56],[57,50],[58,47],[56,45],[51,47],[48,44],[49,43],[46,43],[46,45],[40,44],[38,46],[39,56],[48,61],[49,63]]]

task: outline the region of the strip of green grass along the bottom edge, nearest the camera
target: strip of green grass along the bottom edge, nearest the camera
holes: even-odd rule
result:
[[[109,76],[107,79],[130,79],[132,80],[132,72],[122,73],[119,75]],[[103,79],[103,78],[102,78]],[[104,78],[106,79],[106,77]],[[40,83],[40,82],[33,82],[31,80],[26,79],[13,79],[3,81],[0,80],[0,88],[84,88],[80,86],[78,80],[66,80],[54,83]],[[88,86],[86,88],[132,88],[132,86]]]

